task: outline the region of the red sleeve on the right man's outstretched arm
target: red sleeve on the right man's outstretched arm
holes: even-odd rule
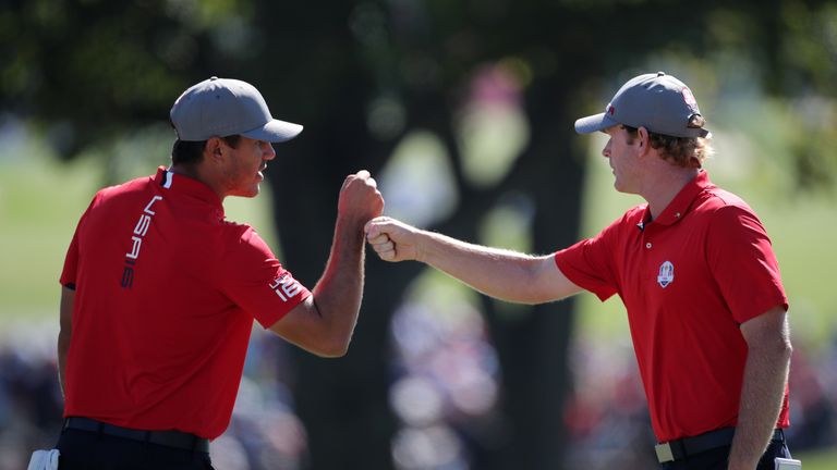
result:
[[[583,239],[555,253],[555,263],[579,287],[595,294],[602,301],[618,292],[612,265],[612,242],[619,221],[593,238]]]

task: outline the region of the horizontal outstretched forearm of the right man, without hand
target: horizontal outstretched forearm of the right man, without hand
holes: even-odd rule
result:
[[[417,260],[502,300],[538,304],[550,300],[535,281],[542,259],[510,250],[461,242],[422,231]]]

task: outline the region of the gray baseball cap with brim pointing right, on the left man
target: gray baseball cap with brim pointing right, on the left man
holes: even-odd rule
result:
[[[302,132],[302,126],[275,120],[253,85],[232,78],[211,77],[183,91],[171,107],[171,123],[185,141],[243,135],[280,143]]]

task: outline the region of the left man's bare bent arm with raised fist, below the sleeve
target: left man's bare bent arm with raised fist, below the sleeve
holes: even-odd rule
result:
[[[384,199],[368,172],[347,177],[323,276],[311,297],[270,326],[272,332],[318,356],[347,352],[363,295],[363,226],[383,210]]]

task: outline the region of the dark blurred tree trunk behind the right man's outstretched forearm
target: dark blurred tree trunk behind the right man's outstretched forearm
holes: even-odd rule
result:
[[[556,102],[565,102],[559,81],[541,84],[527,95],[532,143],[508,181],[494,190],[527,194],[535,205],[533,247],[548,253],[578,237],[583,183],[582,159],[573,158],[571,129]],[[490,199],[490,198],[489,198]],[[478,219],[465,217],[459,231],[476,239]],[[454,220],[462,220],[457,217]],[[484,297],[492,339],[502,374],[500,412],[508,429],[497,449],[476,456],[474,467],[500,469],[559,469],[566,452],[563,404],[571,376],[569,342],[573,325],[572,300],[538,306],[515,306],[506,312]]]

